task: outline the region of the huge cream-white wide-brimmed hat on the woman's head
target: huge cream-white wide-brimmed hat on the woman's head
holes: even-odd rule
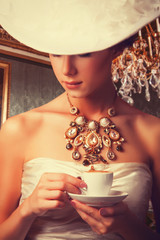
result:
[[[160,15],[160,0],[0,0],[0,24],[36,50],[80,54],[111,47]]]

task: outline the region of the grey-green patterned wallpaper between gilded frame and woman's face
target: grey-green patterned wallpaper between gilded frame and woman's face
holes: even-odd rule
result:
[[[51,66],[2,54],[0,60],[11,63],[9,116],[45,104],[63,92]]]

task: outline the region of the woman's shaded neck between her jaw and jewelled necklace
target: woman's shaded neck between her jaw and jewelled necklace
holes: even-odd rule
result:
[[[77,107],[80,115],[84,115],[87,119],[98,120],[106,115],[107,109],[115,105],[116,91],[114,86],[108,91],[94,93],[93,96],[87,97],[71,97],[68,96],[70,103]]]

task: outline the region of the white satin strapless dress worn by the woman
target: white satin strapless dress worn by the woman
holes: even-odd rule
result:
[[[124,201],[137,217],[145,221],[152,189],[152,174],[148,166],[143,163],[129,162],[96,164],[95,168],[114,173],[112,189],[128,192],[128,197]],[[65,162],[52,158],[35,158],[26,162],[23,169],[20,204],[33,192],[43,173],[67,173],[77,177],[88,169],[89,167],[77,162]],[[56,239],[122,240],[123,238],[116,233],[97,235],[68,204],[63,209],[48,211],[45,215],[37,217],[26,237],[26,240]]]

